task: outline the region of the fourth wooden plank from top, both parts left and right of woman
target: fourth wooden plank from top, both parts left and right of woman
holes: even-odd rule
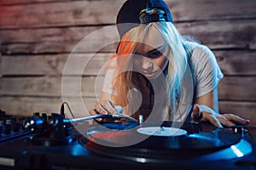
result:
[[[101,93],[104,77],[2,77],[4,96],[95,97]],[[256,77],[224,77],[218,84],[221,100],[256,101]]]

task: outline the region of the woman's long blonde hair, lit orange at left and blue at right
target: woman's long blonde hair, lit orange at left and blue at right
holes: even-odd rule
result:
[[[127,96],[129,89],[134,88],[131,80],[134,74],[132,72],[132,55],[139,48],[139,43],[143,43],[148,29],[152,27],[160,31],[160,34],[166,40],[166,44],[171,49],[166,56],[169,60],[166,71],[166,101],[172,110],[172,114],[175,114],[179,102],[182,79],[188,65],[188,55],[194,47],[187,43],[171,22],[160,21],[142,24],[131,29],[122,37],[117,53],[121,57],[117,57],[117,76],[113,81],[114,91],[117,95],[113,96],[113,102],[122,106],[128,104],[129,101],[124,96]]]

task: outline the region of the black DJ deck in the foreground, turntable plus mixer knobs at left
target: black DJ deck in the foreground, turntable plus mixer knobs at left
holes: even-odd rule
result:
[[[189,122],[90,126],[71,123],[58,113],[2,117],[1,169],[256,169],[255,143],[242,126]]]

